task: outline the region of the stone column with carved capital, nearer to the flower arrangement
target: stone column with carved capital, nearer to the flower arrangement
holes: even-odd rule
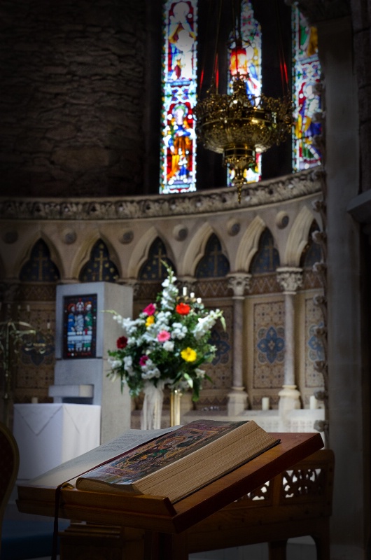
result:
[[[251,286],[251,274],[234,272],[228,276],[233,290],[233,379],[228,393],[228,416],[237,416],[247,408],[247,393],[243,384],[244,293]]]

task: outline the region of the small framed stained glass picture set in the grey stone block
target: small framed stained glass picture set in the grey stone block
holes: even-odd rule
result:
[[[95,358],[97,294],[63,298],[63,358]]]

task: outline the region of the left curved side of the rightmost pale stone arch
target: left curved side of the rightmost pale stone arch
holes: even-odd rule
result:
[[[302,251],[308,243],[309,230],[315,220],[309,208],[303,207],[297,214],[288,235],[286,250],[282,266],[298,267]]]

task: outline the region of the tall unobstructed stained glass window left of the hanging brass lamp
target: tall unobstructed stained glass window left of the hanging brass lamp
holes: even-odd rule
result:
[[[165,2],[160,193],[196,190],[197,0]]]

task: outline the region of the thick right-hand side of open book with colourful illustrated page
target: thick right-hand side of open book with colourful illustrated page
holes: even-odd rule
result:
[[[197,420],[86,472],[76,488],[164,496],[174,503],[277,443],[254,421]]]

